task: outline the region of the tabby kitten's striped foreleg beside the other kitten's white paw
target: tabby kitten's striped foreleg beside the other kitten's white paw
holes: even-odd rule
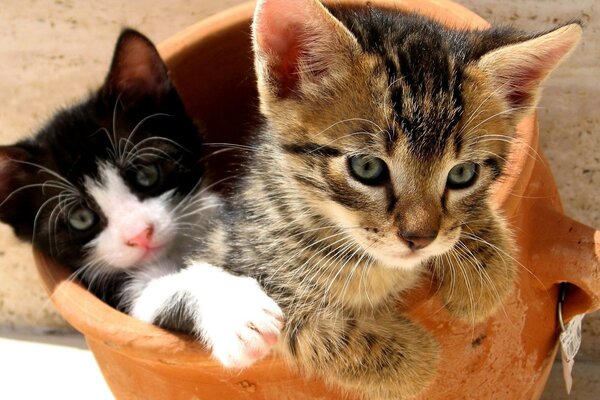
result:
[[[285,330],[280,350],[292,364],[368,400],[412,398],[436,373],[437,342],[393,307],[368,317],[288,320]]]

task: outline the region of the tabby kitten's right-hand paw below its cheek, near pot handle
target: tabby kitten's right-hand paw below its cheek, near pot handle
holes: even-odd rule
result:
[[[463,228],[460,242],[434,267],[440,293],[454,317],[476,323],[502,305],[515,283],[514,248],[506,223],[494,214]]]

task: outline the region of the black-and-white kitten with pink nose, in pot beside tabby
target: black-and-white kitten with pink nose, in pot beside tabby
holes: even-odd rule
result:
[[[0,220],[109,304],[243,367],[277,341],[281,311],[254,279],[182,270],[219,205],[198,189],[201,145],[156,48],[125,30],[98,91],[0,146]]]

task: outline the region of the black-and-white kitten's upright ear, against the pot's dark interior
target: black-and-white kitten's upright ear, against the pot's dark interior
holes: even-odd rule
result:
[[[122,101],[143,97],[159,100],[170,89],[167,67],[154,44],[141,33],[125,29],[115,47],[104,91]]]

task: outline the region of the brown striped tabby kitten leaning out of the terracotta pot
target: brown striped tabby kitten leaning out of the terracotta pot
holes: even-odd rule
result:
[[[448,311],[494,313],[514,243],[489,201],[517,123],[579,40],[460,31],[399,11],[260,0],[262,129],[207,259],[259,280],[286,316],[281,354],[369,399],[427,387],[436,341],[395,311],[427,274]]]

